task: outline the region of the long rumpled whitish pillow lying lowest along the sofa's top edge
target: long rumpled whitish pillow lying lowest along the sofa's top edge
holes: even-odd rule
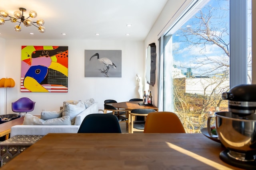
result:
[[[71,125],[71,120],[69,116],[44,120],[26,113],[24,115],[23,125]]]

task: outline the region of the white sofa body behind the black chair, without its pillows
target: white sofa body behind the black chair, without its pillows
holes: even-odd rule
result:
[[[15,135],[46,135],[48,133],[77,133],[84,118],[98,113],[98,102],[94,102],[76,116],[74,125],[15,125],[11,128],[10,137]]]

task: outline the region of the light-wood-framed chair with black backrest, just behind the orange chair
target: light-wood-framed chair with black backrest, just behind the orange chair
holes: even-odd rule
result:
[[[128,122],[131,124],[131,133],[134,131],[144,131],[144,125],[148,113],[154,112],[154,109],[132,109],[129,111]],[[144,116],[144,120],[135,120],[136,116]]]

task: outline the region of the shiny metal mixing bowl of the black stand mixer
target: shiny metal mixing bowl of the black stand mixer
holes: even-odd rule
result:
[[[240,117],[229,111],[216,112],[216,131],[221,143],[236,160],[254,161],[256,155],[256,114]]]

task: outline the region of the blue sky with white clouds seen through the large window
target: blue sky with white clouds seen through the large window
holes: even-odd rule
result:
[[[210,0],[206,6],[212,7],[212,16],[211,22],[209,23],[211,27],[212,33],[219,34],[220,30],[226,29],[227,34],[222,35],[222,39],[225,42],[229,42],[229,1],[228,0]],[[202,8],[203,14],[208,16],[209,11],[206,8]],[[195,16],[200,16],[200,12],[197,12],[190,20],[188,20],[182,28],[186,28],[187,26],[192,29],[197,29],[200,25],[198,24],[199,19],[196,19]],[[205,18],[206,18],[205,16]],[[204,29],[204,28],[202,28]],[[191,37],[191,40],[197,41],[195,37]],[[224,54],[224,51],[220,49],[217,45],[212,44],[199,44],[193,45],[186,41],[185,37],[182,36],[180,30],[176,31],[172,37],[173,44],[173,56],[174,56],[174,64],[186,72],[186,68],[192,68],[193,75],[202,75],[202,73],[206,72],[206,70],[210,68],[216,68],[215,65],[218,62],[224,62],[229,64],[229,58]],[[197,60],[202,61],[206,59],[206,56],[216,61],[216,63],[212,61],[205,61],[204,64],[199,64]],[[195,69],[196,67],[199,68]],[[214,70],[211,71],[210,76],[215,73],[222,72],[222,70]]]

